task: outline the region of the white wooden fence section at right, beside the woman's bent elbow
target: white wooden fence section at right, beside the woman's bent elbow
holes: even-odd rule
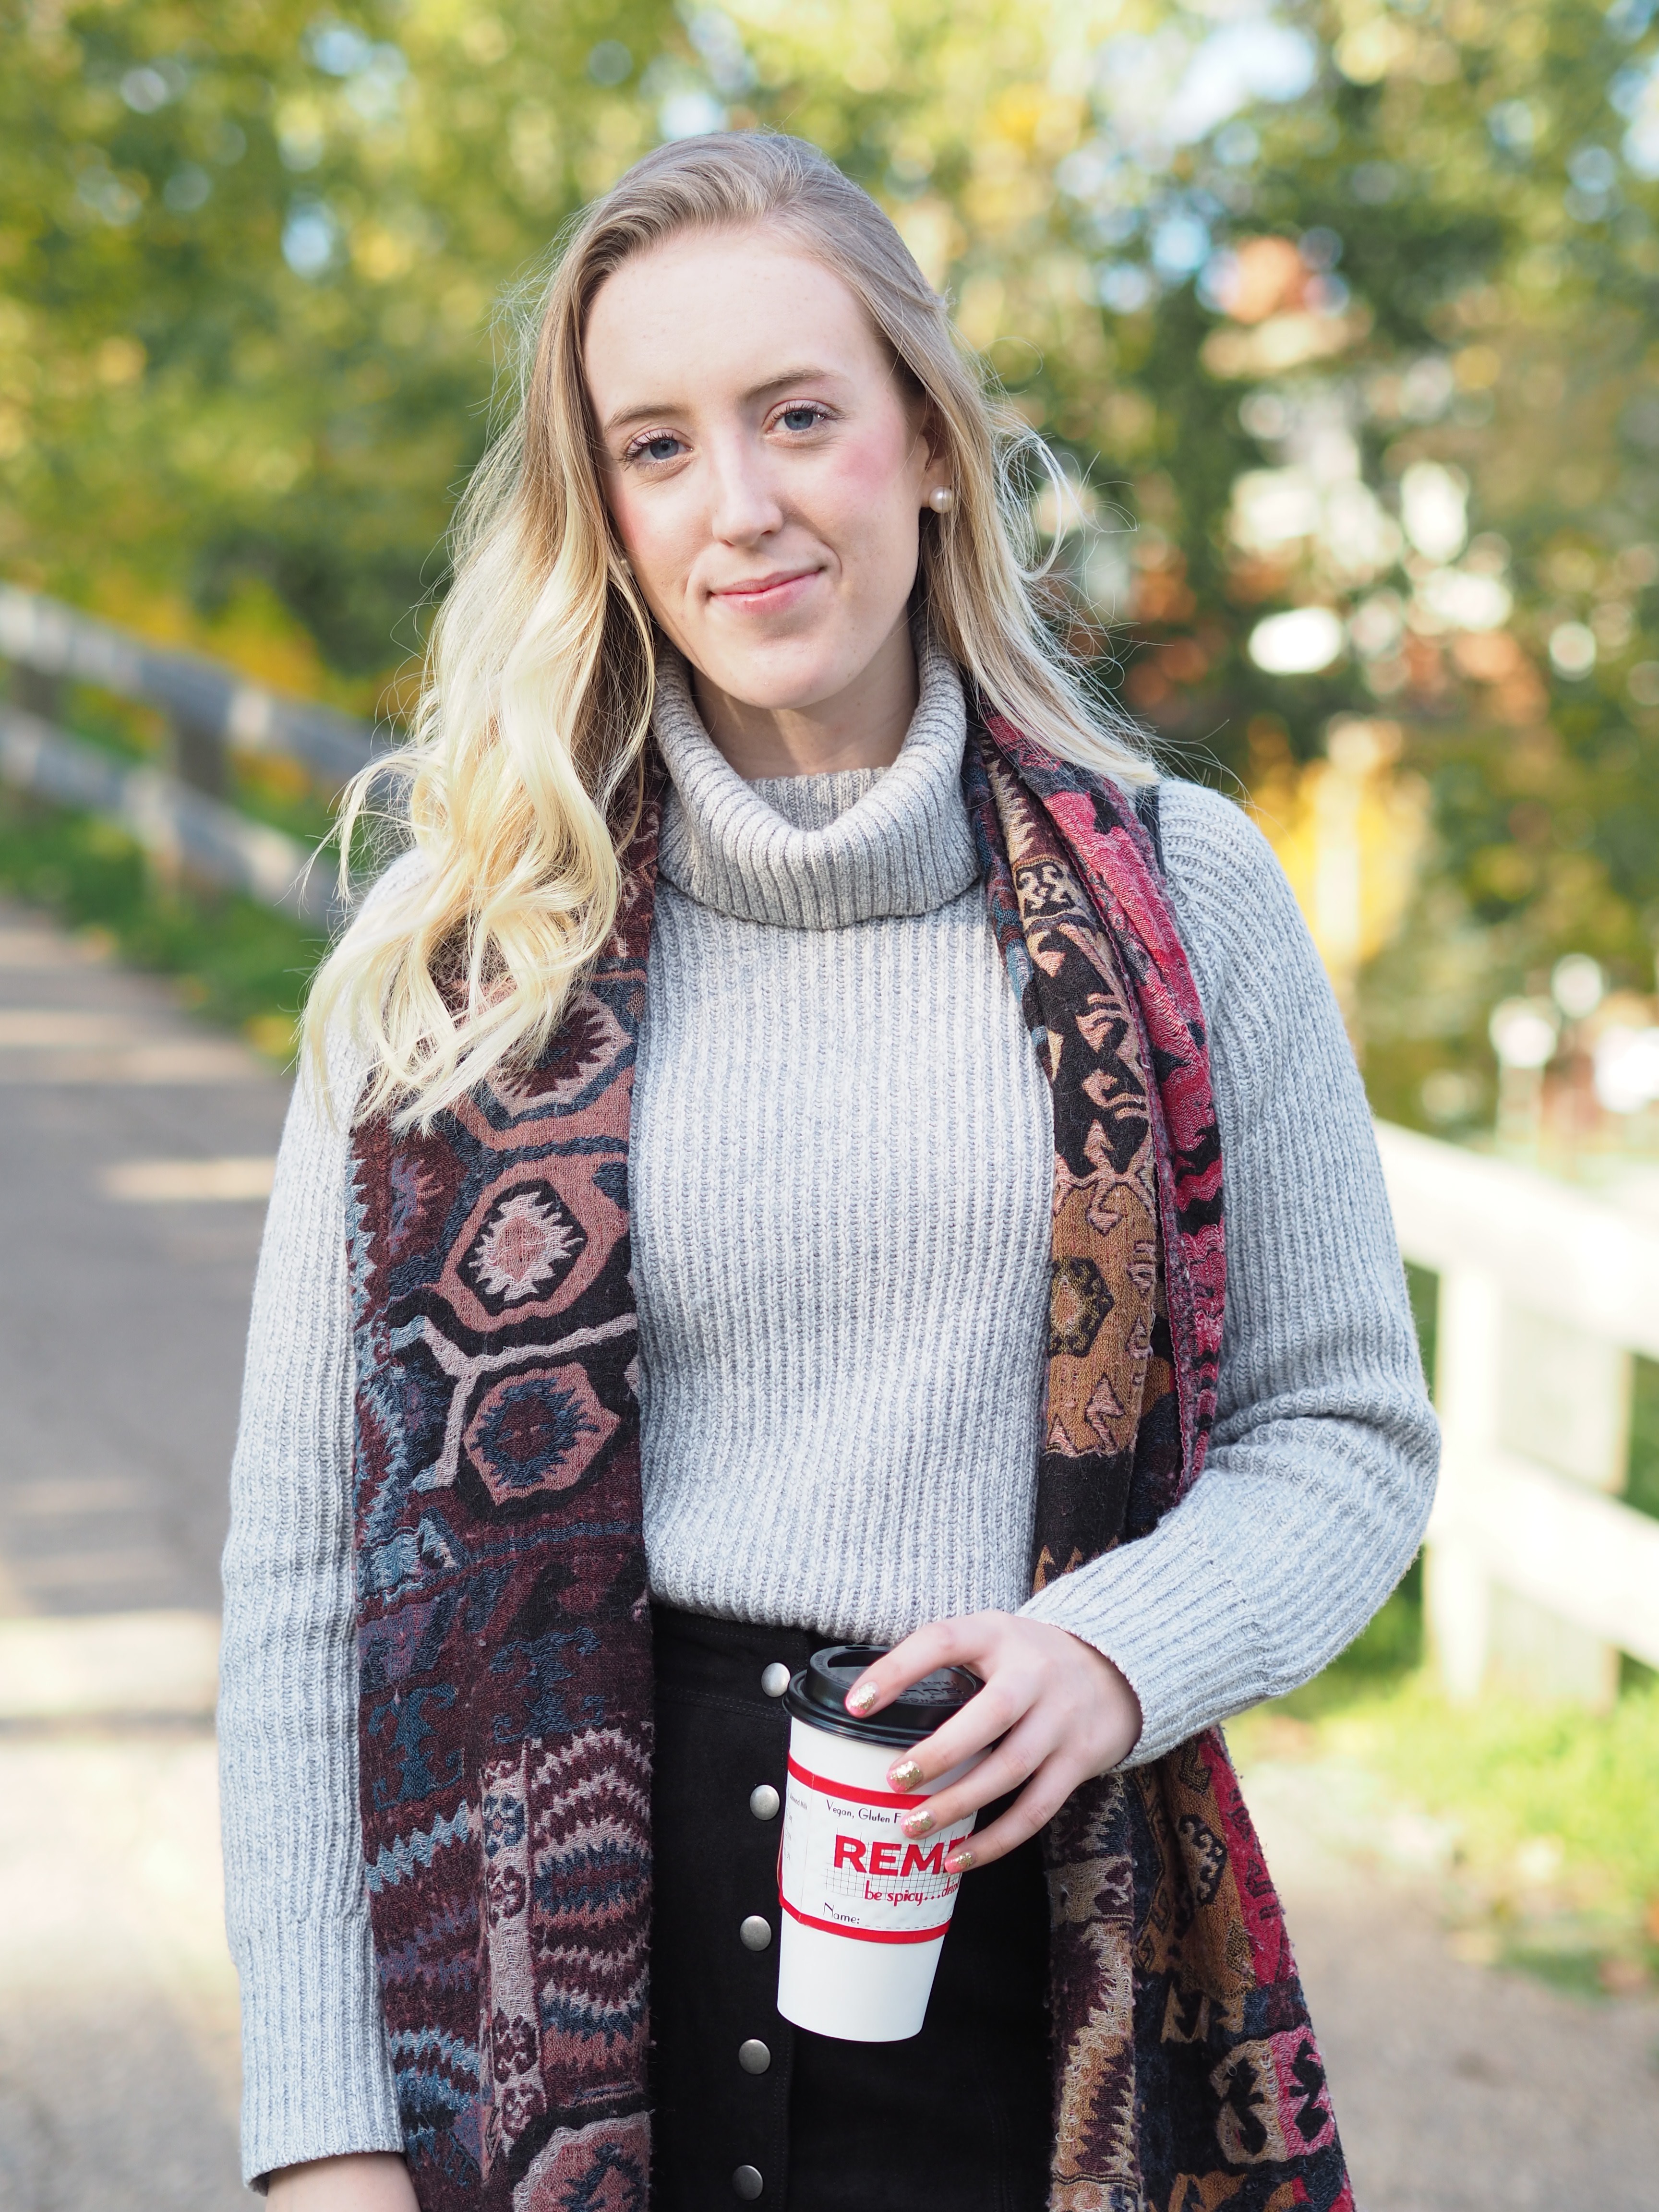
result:
[[[1659,1358],[1659,1221],[1378,1128],[1400,1250],[1440,1276],[1427,1626],[1442,1681],[1604,1708],[1659,1666],[1659,1520],[1621,1504],[1630,1356]]]

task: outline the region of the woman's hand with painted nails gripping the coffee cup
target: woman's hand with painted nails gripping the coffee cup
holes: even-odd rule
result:
[[[951,1874],[1004,1858],[1053,1820],[1077,1783],[1119,1765],[1139,1741],[1141,1701],[1110,1659],[1066,1628],[1022,1613],[967,1613],[918,1628],[865,1668],[847,1692],[847,1710],[867,1719],[942,1666],[969,1668],[984,1688],[914,1750],[896,1752],[889,1783],[914,1792],[987,1743],[995,1750],[927,1807],[905,1814],[900,1827],[907,1836],[931,1836],[1020,1790],[984,1834],[956,1845],[945,1860]]]

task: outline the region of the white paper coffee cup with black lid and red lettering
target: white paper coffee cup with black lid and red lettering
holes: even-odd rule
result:
[[[887,1770],[931,1736],[980,1683],[945,1668],[869,1721],[845,1694],[883,1652],[836,1644],[790,1683],[790,1778],[779,1851],[779,2011],[814,2035],[896,2044],[920,2035],[960,1876],[945,1871],[973,1814],[911,1838],[900,1820],[984,1756],[916,1792]]]

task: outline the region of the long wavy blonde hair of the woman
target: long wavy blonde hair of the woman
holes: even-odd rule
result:
[[[429,1124],[491,1068],[533,1062],[611,936],[637,823],[655,630],[617,544],[582,374],[593,299],[681,230],[768,223],[863,301],[914,387],[956,487],[922,515],[918,606],[1020,730],[1119,783],[1152,781],[1133,723],[1091,703],[1040,619],[1022,480],[1035,440],[995,398],[945,301],[874,199],[803,139],[719,133],[659,146],[571,226],[524,319],[518,407],[453,524],[409,743],[341,807],[341,854],[392,774],[420,865],[363,905],[305,1009],[349,1026],[369,1077],[356,1117]],[[1037,458],[1044,460],[1037,449]]]

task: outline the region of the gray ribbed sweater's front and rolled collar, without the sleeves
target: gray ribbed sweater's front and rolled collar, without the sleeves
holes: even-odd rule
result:
[[[743,783],[664,672],[633,1234],[668,1604],[894,1644],[1031,1595],[1053,1121],[962,737],[929,655],[894,768]]]

